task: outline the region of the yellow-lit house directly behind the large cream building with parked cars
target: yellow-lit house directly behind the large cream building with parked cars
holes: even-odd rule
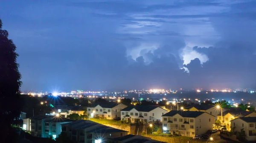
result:
[[[217,119],[217,115],[221,113],[221,109],[217,109],[214,105],[207,105],[207,104],[193,104],[189,107],[185,107],[183,111],[201,111],[207,112],[211,115],[214,115]],[[226,109],[222,109],[222,112],[226,111]]]

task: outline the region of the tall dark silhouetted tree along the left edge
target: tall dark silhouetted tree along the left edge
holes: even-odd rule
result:
[[[0,20],[0,126],[1,141],[4,143],[12,136],[11,123],[20,117],[22,103],[20,102],[20,81],[21,75],[17,64],[18,54],[16,46],[11,39],[8,39],[8,31],[2,30]]]

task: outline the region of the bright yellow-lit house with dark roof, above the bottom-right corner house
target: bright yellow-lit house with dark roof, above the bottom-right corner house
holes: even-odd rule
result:
[[[222,112],[222,121],[224,125],[231,126],[231,120],[240,118],[240,117],[256,117],[256,112],[243,111],[241,109],[229,109],[225,112]],[[217,115],[218,120],[221,121],[221,113]]]

